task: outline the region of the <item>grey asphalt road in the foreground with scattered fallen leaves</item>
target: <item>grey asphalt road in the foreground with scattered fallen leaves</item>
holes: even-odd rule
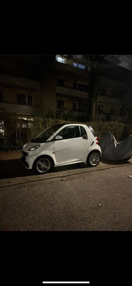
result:
[[[1,188],[0,230],[131,231],[129,175],[132,165]]]

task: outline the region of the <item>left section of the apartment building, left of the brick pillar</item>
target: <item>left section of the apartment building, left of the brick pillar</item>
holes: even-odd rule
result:
[[[0,112],[40,113],[39,62],[32,56],[0,56]]]

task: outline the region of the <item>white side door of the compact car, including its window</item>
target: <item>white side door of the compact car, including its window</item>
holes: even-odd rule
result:
[[[63,128],[58,135],[63,138],[55,140],[54,144],[55,159],[58,163],[78,157],[87,144],[87,138],[83,139],[77,125]]]

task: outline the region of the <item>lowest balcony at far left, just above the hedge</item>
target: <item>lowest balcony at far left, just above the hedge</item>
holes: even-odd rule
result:
[[[3,100],[0,102],[0,111],[18,114],[39,114],[40,105],[18,104],[15,101]]]

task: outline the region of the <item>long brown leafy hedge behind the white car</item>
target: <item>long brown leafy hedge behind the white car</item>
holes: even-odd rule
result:
[[[8,150],[21,150],[23,145],[35,138],[38,134],[43,132],[55,124],[69,124],[69,123],[82,123],[91,125],[95,134],[99,138],[99,142],[108,134],[113,133],[116,140],[122,141],[132,134],[132,124],[125,125],[122,122],[85,122],[74,120],[72,113],[65,114],[65,120],[47,117],[29,117],[27,120],[18,118],[16,114],[0,114],[0,126],[4,129],[4,138],[1,133],[1,151]],[[79,118],[78,118],[79,119]]]

